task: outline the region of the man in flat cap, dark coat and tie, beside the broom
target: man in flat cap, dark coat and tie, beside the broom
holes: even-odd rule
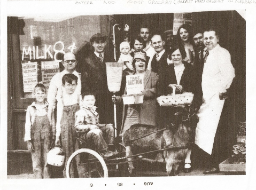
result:
[[[99,123],[113,123],[112,93],[107,88],[106,64],[111,62],[104,53],[107,36],[97,33],[90,38],[94,53],[90,54],[83,64],[82,92],[95,94],[96,106],[99,113]]]

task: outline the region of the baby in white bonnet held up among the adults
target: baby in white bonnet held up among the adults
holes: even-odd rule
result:
[[[122,42],[120,44],[120,58],[118,62],[123,62],[125,65],[123,66],[123,70],[129,69],[130,71],[133,71],[133,65],[131,63],[133,62],[133,57],[131,57],[130,53],[130,44],[128,42]]]

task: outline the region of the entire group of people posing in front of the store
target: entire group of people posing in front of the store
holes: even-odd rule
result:
[[[66,53],[63,72],[53,76],[48,90],[43,84],[35,86],[35,98],[27,109],[26,134],[28,149],[32,152],[35,178],[49,178],[46,154],[53,146],[62,146],[66,162],[75,151],[75,136],[83,138],[102,156],[110,157],[117,152],[112,149],[114,141],[113,102],[122,105],[126,94],[126,76],[141,75],[144,78],[143,104],[121,106],[120,136],[136,123],[165,127],[172,117],[172,108],[159,107],[157,97],[192,92],[192,107],[198,114],[195,144],[205,154],[205,174],[218,172],[212,154],[214,137],[233,78],[234,67],[229,52],[220,47],[219,35],[214,29],[192,34],[190,25],[177,30],[177,45],[173,35],[151,36],[148,27],[142,27],[131,42],[120,44],[119,62],[124,62],[119,96],[108,91],[105,62],[112,62],[104,53],[107,37],[97,33],[90,38],[94,53],[82,65],[81,74],[75,68],[77,60],[73,53]],[[133,49],[131,49],[133,47]],[[82,92],[82,93],[81,93]],[[97,109],[96,109],[96,106]],[[57,107],[55,122],[54,110]],[[185,158],[184,172],[191,171],[191,148]],[[71,173],[74,166],[71,167]]]

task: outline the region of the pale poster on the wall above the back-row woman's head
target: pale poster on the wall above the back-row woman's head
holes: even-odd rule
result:
[[[173,35],[177,35],[178,29],[184,23],[192,25],[192,13],[174,13]]]

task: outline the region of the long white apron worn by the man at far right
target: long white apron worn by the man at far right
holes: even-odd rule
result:
[[[218,128],[225,100],[220,100],[221,72],[218,64],[209,54],[202,75],[203,104],[198,111],[199,122],[196,129],[195,144],[208,154],[212,154],[213,142]],[[218,60],[218,59],[217,59]]]

